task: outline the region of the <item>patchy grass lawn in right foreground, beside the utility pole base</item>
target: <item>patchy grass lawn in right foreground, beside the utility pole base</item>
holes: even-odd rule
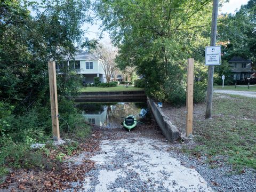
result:
[[[213,167],[230,163],[241,171],[244,167],[256,169],[254,106],[255,98],[214,95],[213,118],[195,117],[193,126],[198,145],[185,150],[196,156],[207,156]]]

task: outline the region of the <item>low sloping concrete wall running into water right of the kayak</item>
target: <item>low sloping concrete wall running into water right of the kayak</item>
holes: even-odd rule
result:
[[[168,141],[175,141],[180,138],[180,130],[175,127],[170,119],[166,117],[161,108],[159,108],[156,103],[147,97],[148,107],[151,109],[151,113],[154,115],[157,124],[163,131],[165,138]]]

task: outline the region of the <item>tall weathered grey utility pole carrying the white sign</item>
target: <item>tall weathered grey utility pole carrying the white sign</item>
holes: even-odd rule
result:
[[[211,46],[216,45],[218,8],[219,8],[219,0],[213,0]],[[209,66],[207,95],[206,95],[206,111],[205,111],[206,119],[212,117],[213,73],[214,73],[214,66]]]

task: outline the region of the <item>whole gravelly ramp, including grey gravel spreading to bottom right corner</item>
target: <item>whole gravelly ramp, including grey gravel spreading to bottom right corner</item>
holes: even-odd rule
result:
[[[204,159],[174,150],[185,146],[167,142],[161,130],[152,127],[137,127],[131,132],[103,130],[100,150],[82,153],[74,159],[78,164],[91,159],[94,169],[85,174],[83,181],[70,183],[72,188],[66,191],[256,190],[255,172],[230,175],[231,168],[224,165],[211,169]]]

